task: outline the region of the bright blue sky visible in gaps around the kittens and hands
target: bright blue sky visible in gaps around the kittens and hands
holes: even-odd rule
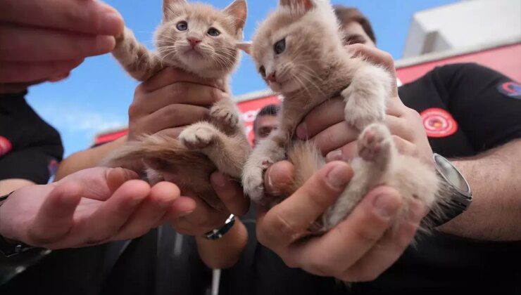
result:
[[[206,0],[224,8],[232,0]],[[401,58],[413,13],[451,4],[457,0],[350,0],[334,4],[355,6],[371,20],[378,46]],[[153,48],[152,33],[161,22],[161,0],[106,0],[120,11],[137,38]],[[249,0],[245,38],[250,39],[258,22],[277,6],[277,0]],[[30,89],[27,100],[49,124],[60,131],[65,156],[84,150],[96,133],[127,124],[137,82],[127,76],[111,55],[87,58],[70,77],[55,84]],[[245,56],[232,78],[234,95],[265,89],[251,58]]]

